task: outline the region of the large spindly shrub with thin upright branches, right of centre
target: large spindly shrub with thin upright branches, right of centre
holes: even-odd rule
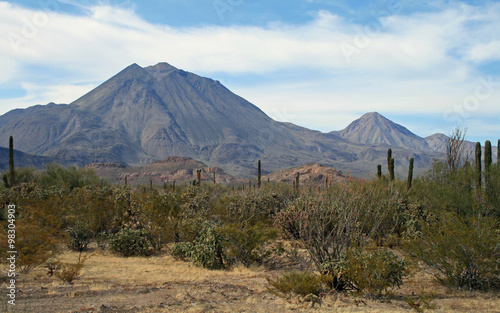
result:
[[[383,241],[397,226],[397,190],[351,181],[305,194],[278,212],[275,225],[308,250],[317,270],[347,248]]]

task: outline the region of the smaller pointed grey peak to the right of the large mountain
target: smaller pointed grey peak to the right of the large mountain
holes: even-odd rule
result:
[[[364,114],[340,131],[339,135],[349,141],[363,144],[384,144],[416,151],[429,150],[425,139],[377,112]]]

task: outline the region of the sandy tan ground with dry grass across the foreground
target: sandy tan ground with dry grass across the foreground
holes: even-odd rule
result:
[[[77,257],[66,252],[60,260],[75,262]],[[432,308],[426,312],[500,312],[498,293],[450,291],[421,271],[414,271],[386,299],[329,294],[311,307],[267,291],[266,276],[281,272],[244,267],[209,271],[170,256],[121,258],[96,252],[71,285],[43,268],[21,274],[15,307],[6,303],[4,278],[0,312],[417,312],[408,299],[418,308],[427,300]],[[429,293],[434,296],[423,296]]]

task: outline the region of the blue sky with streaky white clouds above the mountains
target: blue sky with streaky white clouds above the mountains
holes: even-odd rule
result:
[[[423,137],[500,138],[496,1],[22,0],[0,20],[0,114],[168,62],[324,132],[378,111]]]

